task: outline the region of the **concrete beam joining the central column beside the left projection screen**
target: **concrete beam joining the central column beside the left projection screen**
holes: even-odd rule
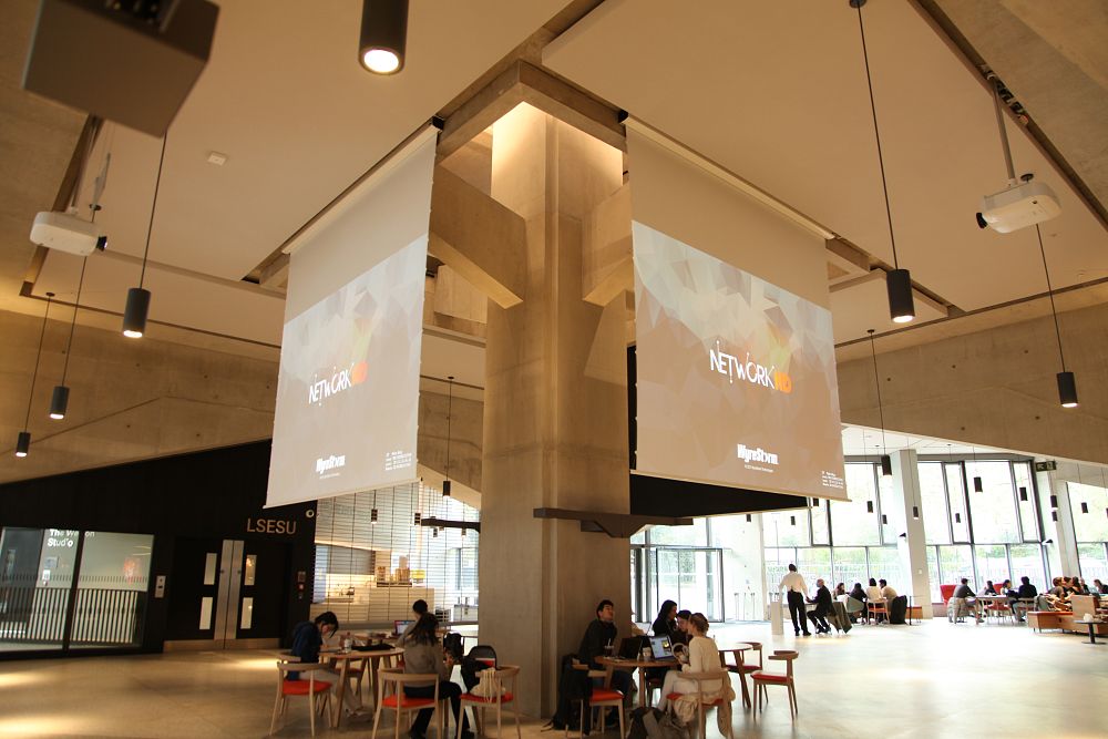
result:
[[[434,172],[429,249],[502,308],[523,300],[526,224],[444,167]]]

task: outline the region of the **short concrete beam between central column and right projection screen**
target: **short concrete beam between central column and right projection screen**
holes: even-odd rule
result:
[[[630,186],[624,185],[585,216],[582,298],[604,307],[635,290],[632,259]]]

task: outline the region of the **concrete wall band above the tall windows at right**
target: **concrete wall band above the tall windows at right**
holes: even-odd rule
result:
[[[885,428],[1108,463],[1108,305],[1058,316],[1080,406],[1058,404],[1050,317],[881,353]],[[839,365],[845,423],[878,425],[873,363]]]

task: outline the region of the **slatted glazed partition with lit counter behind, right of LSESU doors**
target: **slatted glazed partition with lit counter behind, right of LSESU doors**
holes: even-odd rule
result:
[[[423,599],[440,620],[476,622],[480,536],[423,525],[432,517],[475,523],[480,513],[420,483],[319,501],[312,617],[334,610],[343,626],[380,627]]]

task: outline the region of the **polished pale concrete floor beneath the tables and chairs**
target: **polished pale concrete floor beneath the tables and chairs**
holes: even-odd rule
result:
[[[800,650],[799,717],[771,687],[757,719],[736,702],[736,737],[1108,737],[1108,645],[1087,637],[945,619],[800,639],[771,637],[766,624],[712,630],[721,645]],[[4,661],[0,737],[264,737],[275,679],[273,657],[260,651]],[[561,736],[540,726],[526,720],[524,739]],[[368,737],[370,728],[320,727],[317,736]],[[309,736],[302,701],[276,736]],[[708,737],[718,736],[710,717]]]

